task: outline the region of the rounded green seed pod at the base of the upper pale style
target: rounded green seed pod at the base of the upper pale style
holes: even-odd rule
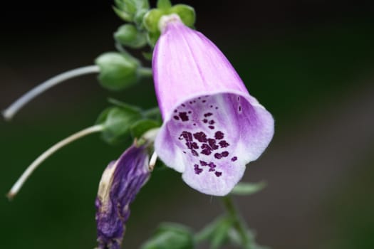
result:
[[[103,53],[95,60],[100,68],[98,80],[109,90],[123,90],[138,80],[138,64],[122,53]]]

